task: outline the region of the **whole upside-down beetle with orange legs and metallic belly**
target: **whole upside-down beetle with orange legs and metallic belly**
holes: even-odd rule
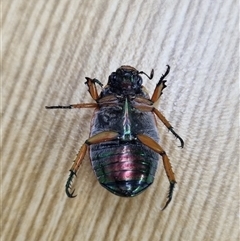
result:
[[[136,196],[153,183],[160,155],[170,182],[167,201],[162,210],[168,206],[176,180],[169,158],[158,144],[159,134],[155,116],[179,139],[182,148],[184,142],[153,104],[166,88],[165,77],[169,71],[170,66],[167,65],[167,70],[156,84],[151,98],[142,86],[141,75],[152,79],[154,70],[152,69],[149,76],[134,67],[123,65],[111,73],[104,88],[99,80],[85,77],[85,84],[94,103],[45,107],[95,108],[90,137],[81,146],[65,185],[68,197],[76,196],[74,190],[72,191],[73,178],[88,149],[99,183],[113,194],[123,197]],[[100,94],[97,91],[97,84],[102,88]]]

